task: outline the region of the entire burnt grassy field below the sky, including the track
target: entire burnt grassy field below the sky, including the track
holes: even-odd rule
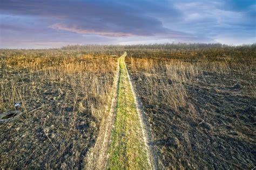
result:
[[[255,166],[253,45],[0,54],[0,114],[23,113],[0,124],[3,169]]]

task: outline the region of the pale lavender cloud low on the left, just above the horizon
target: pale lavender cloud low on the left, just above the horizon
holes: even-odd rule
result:
[[[69,44],[112,44],[113,38],[55,31],[38,17],[0,15],[0,48],[51,48]]]

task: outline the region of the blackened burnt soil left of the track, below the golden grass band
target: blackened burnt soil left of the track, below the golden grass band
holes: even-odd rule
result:
[[[17,101],[22,103],[22,107],[17,110],[23,114],[14,122],[0,124],[0,166],[3,169],[82,168],[87,151],[95,144],[99,124],[92,116],[92,105],[87,106],[86,102],[94,103],[94,107],[103,105],[104,102],[93,95],[86,99],[74,91],[68,75],[65,80],[59,80],[42,79],[42,76],[38,77],[40,74],[40,70],[31,74],[22,68],[4,67],[1,70],[2,94],[19,91],[18,95],[23,96],[23,101]],[[90,88],[93,76],[97,76],[97,80],[105,80],[98,84],[98,88],[104,84],[109,86],[107,83],[113,82],[112,72],[88,72],[79,79],[85,80],[88,83],[86,86]],[[26,91],[26,87],[30,86],[34,86],[32,91]],[[0,112],[15,110],[8,106],[11,98],[5,98],[7,95],[2,97]],[[82,109],[79,108],[79,103],[83,104]]]

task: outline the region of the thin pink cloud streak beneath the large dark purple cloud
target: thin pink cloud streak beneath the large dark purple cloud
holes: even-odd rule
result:
[[[70,31],[70,32],[76,32],[79,34],[97,34],[100,36],[110,36],[110,37],[137,36],[136,34],[125,33],[125,32],[111,32],[111,31],[96,31],[96,30],[79,29],[76,26],[66,26],[63,24],[53,24],[50,27],[55,30],[65,30],[65,31]]]

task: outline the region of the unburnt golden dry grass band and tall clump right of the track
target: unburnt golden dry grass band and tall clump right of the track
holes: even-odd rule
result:
[[[189,58],[188,58],[189,59]],[[130,69],[134,73],[142,73],[146,77],[147,96],[155,103],[157,98],[163,98],[164,103],[178,111],[179,107],[188,107],[190,104],[185,84],[197,83],[198,76],[204,72],[219,74],[238,73],[250,76],[252,82],[250,89],[255,92],[253,86],[254,75],[252,74],[253,62],[240,63],[232,58],[220,61],[209,61],[206,58],[196,62],[179,59],[151,59],[151,58],[129,58]],[[239,78],[238,78],[239,81]],[[254,93],[255,94],[255,93]]]

